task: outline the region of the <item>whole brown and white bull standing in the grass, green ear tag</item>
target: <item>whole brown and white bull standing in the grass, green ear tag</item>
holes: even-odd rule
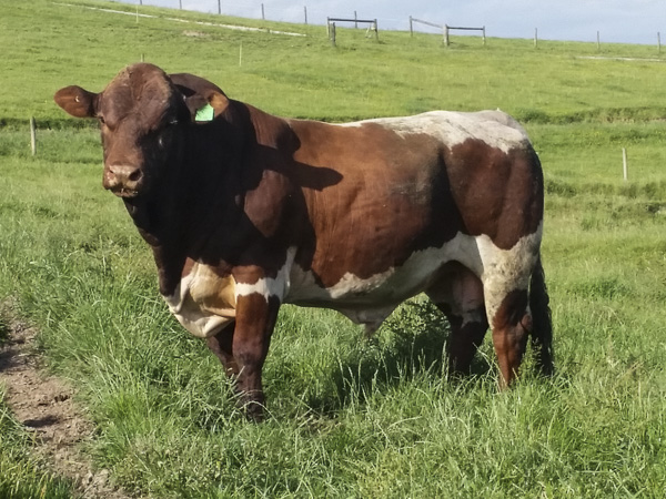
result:
[[[528,336],[552,371],[542,169],[508,115],[283,119],[147,63],[100,93],[67,86],[54,99],[99,119],[104,187],[151,246],[169,308],[206,339],[250,417],[262,417],[283,303],[333,308],[370,333],[425,293],[451,323],[452,370],[468,370],[490,326],[501,385]],[[214,119],[198,122],[206,103]]]

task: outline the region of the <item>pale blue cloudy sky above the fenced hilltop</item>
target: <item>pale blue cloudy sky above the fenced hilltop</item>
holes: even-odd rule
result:
[[[185,10],[272,21],[325,24],[326,17],[377,19],[380,31],[408,30],[410,16],[436,24],[480,28],[488,37],[534,38],[656,44],[657,32],[666,44],[664,0],[124,0]],[[420,31],[435,29],[414,24]]]

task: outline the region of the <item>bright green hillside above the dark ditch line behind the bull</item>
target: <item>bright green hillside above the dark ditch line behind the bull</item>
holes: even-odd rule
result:
[[[72,1],[105,6],[104,2]],[[134,6],[111,3],[134,12]],[[40,12],[39,29],[34,12]],[[52,95],[65,84],[101,90],[125,64],[140,60],[169,72],[212,79],[232,98],[269,112],[344,120],[416,113],[432,109],[501,108],[536,122],[663,118],[664,62],[656,47],[544,42],[457,37],[451,48],[434,34],[383,32],[380,42],[363,30],[339,30],[331,47],[324,27],[286,24],[307,37],[231,31],[182,23],[170,17],[251,26],[230,19],[144,7],[157,19],[67,7],[47,0],[3,1],[2,119],[62,120]],[[188,37],[196,31],[203,37]],[[239,52],[242,45],[242,65]],[[581,57],[633,57],[643,61]],[[666,61],[666,59],[664,59]]]

